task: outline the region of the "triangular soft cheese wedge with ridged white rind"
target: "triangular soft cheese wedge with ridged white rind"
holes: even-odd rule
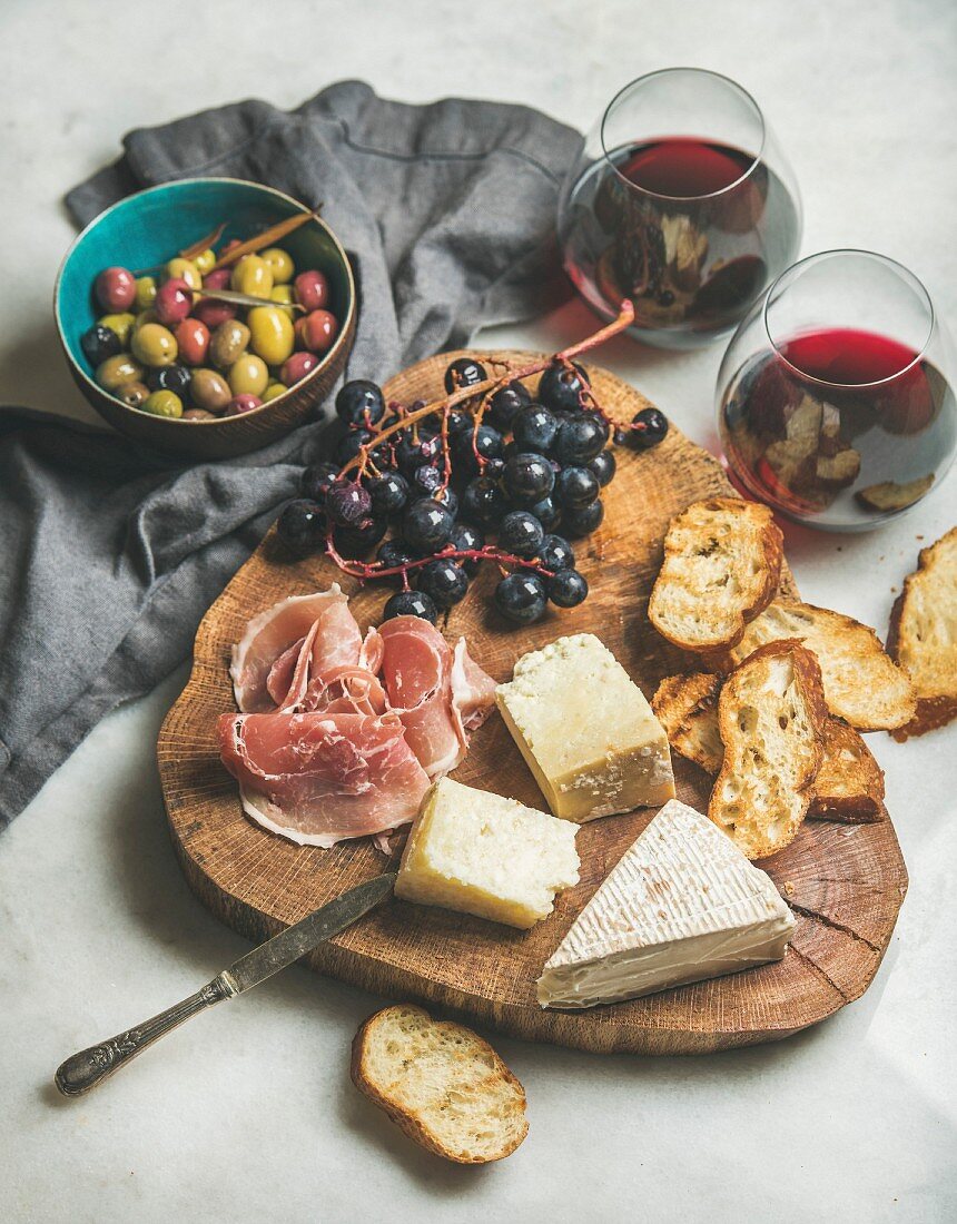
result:
[[[542,1007],[592,1007],[780,961],[794,919],[771,878],[674,799],[575,919]]]

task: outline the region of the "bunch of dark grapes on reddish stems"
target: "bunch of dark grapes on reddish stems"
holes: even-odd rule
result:
[[[487,377],[474,359],[459,359],[445,372],[445,389],[452,394]],[[305,470],[301,498],[279,518],[280,539],[300,556],[328,539],[341,558],[376,550],[363,577],[400,570],[383,575],[401,588],[388,600],[385,619],[411,614],[434,623],[465,597],[486,554],[512,570],[494,590],[508,619],[530,624],[549,601],[576,607],[589,585],[569,541],[601,524],[601,491],[616,471],[608,421],[592,405],[585,371],[556,362],[542,372],[535,399],[518,381],[499,387],[477,427],[472,411],[449,411],[447,444],[442,414],[434,412],[377,446],[377,435],[404,410],[387,405],[374,383],[346,383],[335,400],[345,432],[334,461]],[[642,436],[642,444],[649,441]],[[368,470],[360,479],[341,476],[363,447]]]

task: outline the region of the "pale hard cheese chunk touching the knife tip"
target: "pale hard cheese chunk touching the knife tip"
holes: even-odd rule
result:
[[[515,799],[444,777],[426,793],[405,845],[397,897],[527,929],[578,884],[573,829]]]

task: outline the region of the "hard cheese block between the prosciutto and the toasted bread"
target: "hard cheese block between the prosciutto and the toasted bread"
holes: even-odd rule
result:
[[[595,820],[674,798],[668,737],[590,633],[524,655],[496,701],[552,812]]]

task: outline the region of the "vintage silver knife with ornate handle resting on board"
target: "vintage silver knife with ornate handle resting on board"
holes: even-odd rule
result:
[[[56,1087],[66,1097],[78,1097],[94,1088],[185,1020],[223,999],[233,999],[244,990],[257,987],[288,965],[292,965],[300,956],[305,956],[317,944],[345,930],[383,901],[392,892],[394,884],[395,873],[387,871],[384,875],[377,875],[374,880],[367,880],[350,889],[335,901],[313,909],[295,925],[288,927],[279,935],[241,956],[235,965],[218,973],[195,995],[109,1042],[102,1042],[88,1050],[73,1054],[56,1069]]]

